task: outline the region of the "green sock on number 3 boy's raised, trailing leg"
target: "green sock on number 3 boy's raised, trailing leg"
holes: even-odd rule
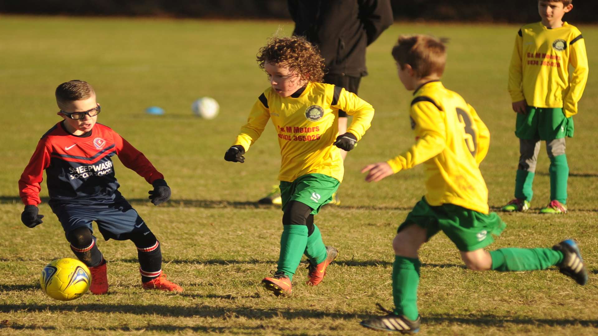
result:
[[[496,271],[545,270],[563,261],[563,253],[547,248],[508,248],[490,251],[492,269]]]

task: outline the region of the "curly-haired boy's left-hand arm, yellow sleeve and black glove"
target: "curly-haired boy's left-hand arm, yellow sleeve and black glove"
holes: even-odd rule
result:
[[[268,120],[270,120],[270,109],[266,95],[262,93],[251,108],[247,123],[241,127],[233,146],[225,152],[224,160],[239,163],[245,162],[245,157],[243,156],[245,155],[245,151],[248,151],[249,147],[260,138]]]

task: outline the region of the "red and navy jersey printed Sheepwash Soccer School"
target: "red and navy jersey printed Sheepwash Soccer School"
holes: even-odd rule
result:
[[[46,173],[50,203],[94,204],[120,196],[111,157],[118,155],[125,167],[152,183],[164,176],[127,140],[110,127],[97,124],[84,138],[66,132],[57,123],[39,139],[19,180],[23,203],[39,204],[40,183]]]

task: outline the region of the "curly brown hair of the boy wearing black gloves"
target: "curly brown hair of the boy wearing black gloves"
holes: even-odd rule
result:
[[[273,37],[257,54],[260,69],[264,64],[280,64],[289,71],[300,75],[301,79],[321,83],[324,80],[324,59],[318,47],[303,36]]]

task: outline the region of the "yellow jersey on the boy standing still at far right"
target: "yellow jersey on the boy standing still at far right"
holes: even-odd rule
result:
[[[579,29],[566,22],[553,29],[541,22],[521,27],[509,66],[512,102],[525,99],[538,108],[563,108],[571,117],[577,113],[587,80],[588,58]]]

